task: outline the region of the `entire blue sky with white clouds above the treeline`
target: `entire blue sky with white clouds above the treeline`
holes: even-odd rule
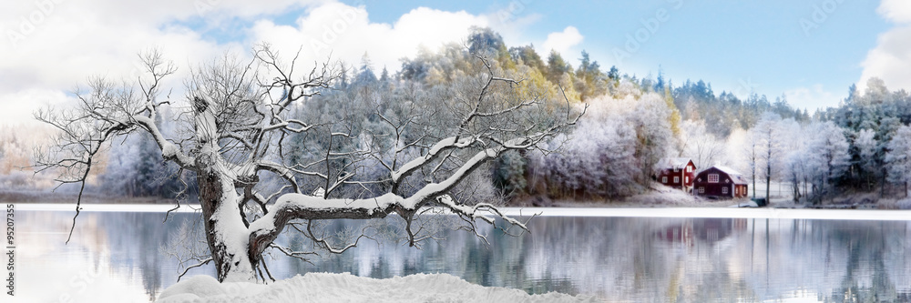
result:
[[[186,73],[267,42],[308,62],[332,56],[394,72],[399,59],[489,26],[507,45],[578,63],[711,82],[716,93],[786,95],[813,111],[878,76],[911,90],[911,1],[38,0],[0,10],[0,123],[72,101],[87,76],[130,77],[157,47]],[[180,88],[180,77],[172,86]]]

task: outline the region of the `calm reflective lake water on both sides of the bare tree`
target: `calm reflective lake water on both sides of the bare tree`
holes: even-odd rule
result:
[[[23,302],[154,299],[179,274],[164,247],[199,217],[179,213],[162,223],[162,212],[84,211],[65,245],[72,211],[17,209],[15,215],[15,298]],[[275,278],[439,272],[485,286],[606,301],[911,301],[911,221],[588,215],[535,217],[532,233],[522,237],[485,229],[489,246],[465,232],[446,232],[445,241],[420,250],[381,240],[313,264],[277,256],[268,265]],[[214,268],[188,276],[199,274]]]

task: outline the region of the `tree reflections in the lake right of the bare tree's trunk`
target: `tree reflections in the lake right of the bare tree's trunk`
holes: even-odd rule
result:
[[[334,222],[327,229],[346,224],[352,223]],[[422,250],[388,239],[368,241],[342,256],[314,258],[312,265],[288,261],[276,267],[282,268],[276,278],[310,271],[374,278],[442,272],[531,293],[557,290],[632,301],[802,296],[794,289],[831,293],[825,297],[830,301],[847,291],[858,299],[901,301],[908,289],[898,291],[896,285],[905,284],[892,277],[907,279],[911,272],[904,257],[911,245],[906,227],[905,222],[536,217],[531,235],[523,237],[483,230],[491,234],[490,247],[457,232],[444,233],[446,241]],[[870,272],[875,275],[862,274]]]

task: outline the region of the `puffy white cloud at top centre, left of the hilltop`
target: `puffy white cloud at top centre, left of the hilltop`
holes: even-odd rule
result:
[[[486,15],[426,7],[415,8],[394,24],[372,23],[363,6],[333,3],[313,8],[294,26],[261,20],[251,29],[250,41],[270,43],[285,54],[300,48],[301,57],[325,60],[332,55],[355,65],[367,53],[378,73],[384,66],[397,70],[401,58],[416,56],[422,47],[435,51],[447,43],[463,42],[473,25],[491,24]]]

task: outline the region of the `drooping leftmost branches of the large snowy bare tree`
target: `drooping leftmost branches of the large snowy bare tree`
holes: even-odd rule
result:
[[[182,154],[176,146],[161,135],[154,121],[159,106],[169,104],[158,101],[159,84],[162,78],[176,71],[176,67],[165,62],[157,50],[140,55],[151,80],[137,79],[136,83],[117,83],[104,77],[88,80],[88,90],[77,88],[78,104],[73,108],[47,108],[39,110],[35,117],[57,129],[53,145],[46,152],[36,153],[37,172],[56,171],[60,184],[78,183],[76,215],[69,236],[72,237],[79,216],[86,181],[92,171],[97,155],[115,137],[127,136],[138,129],[148,131],[159,144],[162,156],[178,162],[192,170],[192,159]],[[136,86],[140,88],[137,92]],[[67,237],[69,242],[69,237]]]

